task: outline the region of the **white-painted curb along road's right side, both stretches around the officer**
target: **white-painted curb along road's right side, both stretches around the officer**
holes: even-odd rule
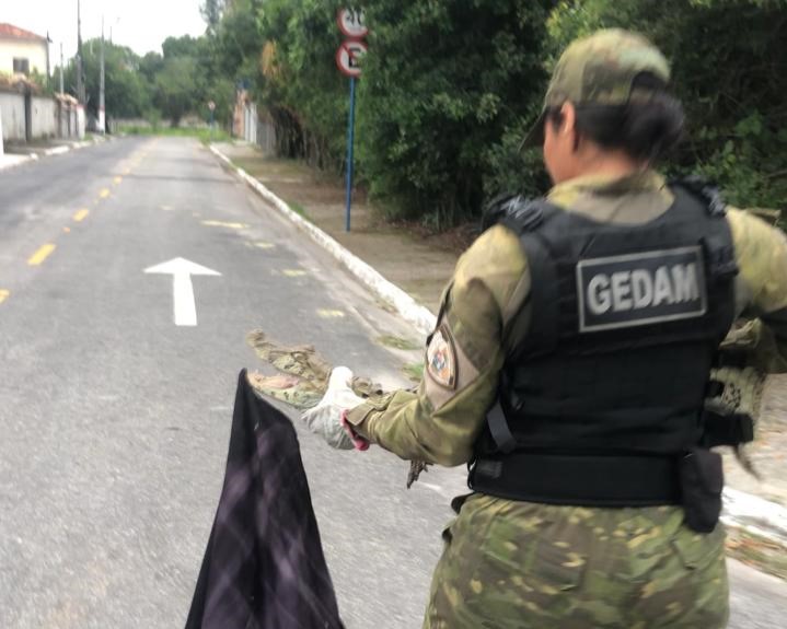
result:
[[[386,280],[367,263],[348,252],[320,228],[292,211],[285,201],[248,173],[235,166],[227,155],[212,144],[210,145],[210,150],[266,201],[296,223],[301,230],[306,232],[314,242],[331,253],[363,286],[381,299],[391,303],[396,312],[408,323],[413,324],[418,331],[428,335],[435,329],[437,317],[430,311],[417,304],[410,295]],[[732,488],[725,489],[724,504],[725,508],[721,520],[726,525],[749,531],[787,548],[786,508]]]

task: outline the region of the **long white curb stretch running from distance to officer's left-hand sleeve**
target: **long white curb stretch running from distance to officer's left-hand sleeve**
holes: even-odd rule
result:
[[[347,270],[349,270],[366,288],[371,290],[377,296],[386,303],[391,304],[402,318],[413,325],[419,333],[424,335],[431,334],[437,324],[437,317],[428,308],[418,304],[405,291],[386,280],[379,271],[369,266],[355,254],[351,254],[334,237],[326,234],[314,223],[309,222],[303,217],[294,212],[283,200],[277,197],[257,179],[252,177],[243,168],[235,166],[232,161],[215,145],[210,144],[210,150],[220,160],[225,162],[238,174],[238,176],[248,184],[248,186],[251,186],[261,197],[279,210],[279,212],[293,222],[299,229],[309,234],[315,243],[334,256],[334,258],[346,267]]]

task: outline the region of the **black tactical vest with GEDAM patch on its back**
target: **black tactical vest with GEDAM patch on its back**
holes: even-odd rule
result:
[[[694,183],[672,190],[667,212],[636,225],[543,200],[498,206],[495,222],[528,258],[531,318],[471,487],[536,502],[680,502],[675,462],[703,442],[738,268],[718,198]]]

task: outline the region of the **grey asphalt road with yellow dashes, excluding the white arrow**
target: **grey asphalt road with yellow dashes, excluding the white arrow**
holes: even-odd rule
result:
[[[194,278],[196,326],[143,272],[177,257],[221,273]],[[0,628],[183,625],[254,328],[389,385],[374,339],[413,336],[197,142],[0,173]],[[299,431],[348,629],[419,627],[461,471],[408,491],[395,457]],[[731,571],[731,627],[785,626],[787,586]]]

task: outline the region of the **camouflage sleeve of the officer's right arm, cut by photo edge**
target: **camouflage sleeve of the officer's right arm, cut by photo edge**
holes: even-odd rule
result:
[[[757,361],[764,371],[787,372],[787,236],[755,216],[731,208],[727,214],[740,273],[739,314],[759,317]]]

